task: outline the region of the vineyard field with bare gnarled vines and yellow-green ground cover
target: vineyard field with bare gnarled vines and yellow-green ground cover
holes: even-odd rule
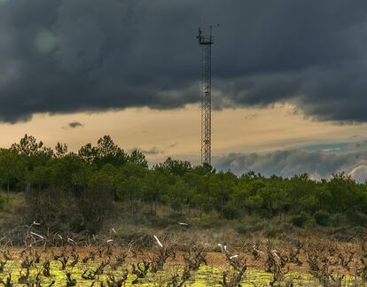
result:
[[[52,238],[52,239],[51,239]],[[154,238],[154,237],[153,237]],[[316,240],[269,241],[186,249],[154,238],[119,246],[112,239],[76,242],[27,234],[24,248],[4,244],[4,286],[363,286],[367,244]],[[183,250],[185,249],[185,250]]]

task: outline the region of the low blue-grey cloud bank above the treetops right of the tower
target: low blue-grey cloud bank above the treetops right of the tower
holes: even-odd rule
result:
[[[352,172],[366,166],[367,151],[332,153],[327,151],[285,150],[259,153],[231,153],[217,158],[214,166],[241,175],[248,171],[262,175],[290,177],[308,173],[316,179],[329,178],[339,172]]]

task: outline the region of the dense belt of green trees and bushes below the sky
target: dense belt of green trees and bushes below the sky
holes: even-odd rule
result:
[[[168,158],[148,167],[144,154],[130,154],[103,136],[74,153],[54,150],[34,136],[0,150],[0,183],[9,195],[25,195],[21,216],[47,229],[98,232],[116,206],[127,216],[165,208],[184,219],[277,218],[293,226],[367,225],[367,185],[346,174],[316,182],[308,175],[265,178],[234,175],[208,165]],[[0,206],[6,205],[6,196]],[[120,212],[120,209],[119,209]],[[55,231],[54,230],[54,231]]]

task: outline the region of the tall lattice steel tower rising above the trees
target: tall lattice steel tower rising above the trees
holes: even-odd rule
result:
[[[212,154],[212,26],[210,35],[197,36],[201,47],[201,164],[211,163]]]

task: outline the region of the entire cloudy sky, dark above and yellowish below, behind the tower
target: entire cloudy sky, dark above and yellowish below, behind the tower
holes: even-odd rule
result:
[[[196,35],[216,23],[213,166],[363,182],[364,0],[0,0],[0,146],[110,135],[199,164]]]

